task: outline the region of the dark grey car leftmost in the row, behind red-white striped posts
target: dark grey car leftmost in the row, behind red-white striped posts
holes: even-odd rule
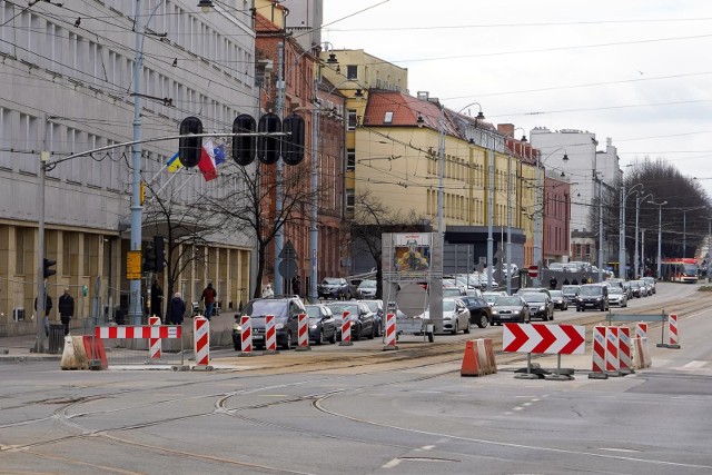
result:
[[[275,317],[277,345],[290,349],[298,343],[299,314],[306,314],[299,297],[256,298],[247,303],[243,315],[249,315],[253,324],[253,345],[261,347],[265,342],[265,317]]]

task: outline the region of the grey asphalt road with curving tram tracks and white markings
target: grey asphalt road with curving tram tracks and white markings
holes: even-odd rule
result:
[[[500,327],[397,352],[221,350],[215,372],[0,364],[0,473],[711,473],[712,295],[694,289],[632,303],[679,308],[681,348],[653,344],[651,368],[604,380],[587,378],[590,352],[563,358],[568,382],[516,379],[521,360],[502,354],[497,374],[461,377],[464,340]]]

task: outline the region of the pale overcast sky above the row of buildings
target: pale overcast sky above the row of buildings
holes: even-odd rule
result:
[[[323,24],[407,68],[412,96],[611,138],[622,167],[661,158],[712,197],[710,0],[324,0]]]

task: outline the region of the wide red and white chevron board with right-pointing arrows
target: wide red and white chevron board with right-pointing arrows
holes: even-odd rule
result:
[[[510,353],[583,355],[585,343],[584,326],[504,324],[502,349]]]

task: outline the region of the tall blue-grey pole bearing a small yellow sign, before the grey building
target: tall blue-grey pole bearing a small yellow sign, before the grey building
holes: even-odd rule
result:
[[[136,51],[134,67],[134,141],[131,148],[131,250],[141,250],[141,0],[136,0]],[[129,319],[141,325],[141,279],[129,280]]]

